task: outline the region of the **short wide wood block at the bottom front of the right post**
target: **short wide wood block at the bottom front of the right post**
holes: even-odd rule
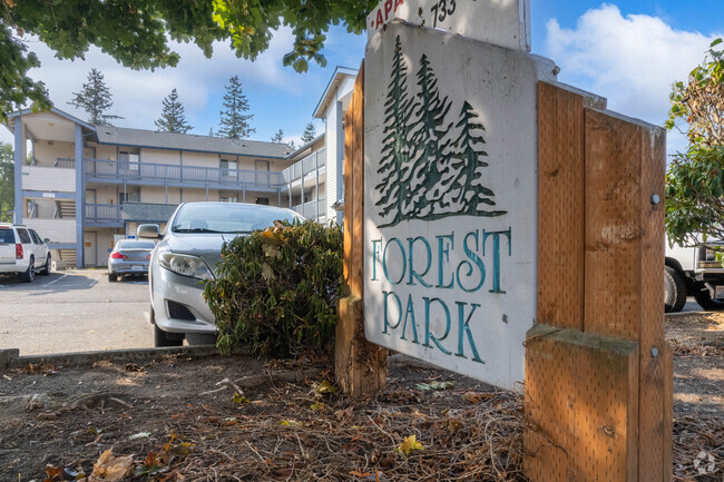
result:
[[[638,345],[536,325],[528,332],[526,474],[535,482],[636,480]]]

